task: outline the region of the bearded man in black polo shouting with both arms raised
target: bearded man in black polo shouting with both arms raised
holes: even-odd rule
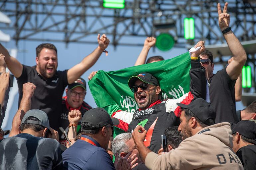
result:
[[[22,98],[22,85],[31,82],[37,86],[31,99],[31,109],[41,109],[47,113],[50,126],[58,129],[59,114],[62,108],[62,95],[65,87],[77,80],[98,60],[102,52],[106,52],[109,39],[98,34],[98,47],[80,63],[69,70],[57,71],[57,49],[53,44],[44,43],[36,48],[36,66],[30,67],[21,64],[11,57],[8,51],[0,45],[0,53],[5,55],[7,67],[17,78],[19,87],[19,103]]]

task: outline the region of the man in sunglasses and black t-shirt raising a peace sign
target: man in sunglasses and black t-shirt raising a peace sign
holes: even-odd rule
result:
[[[247,59],[243,46],[229,27],[230,16],[227,14],[227,5],[228,3],[225,4],[222,13],[220,4],[218,4],[219,28],[233,54],[233,60],[224,69],[213,74],[212,53],[205,50],[200,54],[200,62],[206,70],[210,102],[216,110],[216,123],[238,122],[235,106],[235,83]]]

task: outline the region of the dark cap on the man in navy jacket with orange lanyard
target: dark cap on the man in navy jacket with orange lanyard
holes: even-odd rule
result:
[[[102,128],[108,124],[119,124],[118,119],[111,118],[105,109],[99,107],[88,110],[82,117],[81,123],[83,122],[87,122],[91,125],[91,127],[85,128],[83,130],[94,130]]]

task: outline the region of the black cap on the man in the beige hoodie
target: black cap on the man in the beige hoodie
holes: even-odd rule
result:
[[[189,109],[200,121],[210,126],[212,123],[209,119],[215,120],[216,112],[213,106],[202,98],[193,100],[190,104],[177,103],[178,106],[184,109]]]

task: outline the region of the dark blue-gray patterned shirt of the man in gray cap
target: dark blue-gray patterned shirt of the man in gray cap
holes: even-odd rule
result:
[[[62,170],[60,144],[50,138],[19,134],[0,142],[0,169]]]

